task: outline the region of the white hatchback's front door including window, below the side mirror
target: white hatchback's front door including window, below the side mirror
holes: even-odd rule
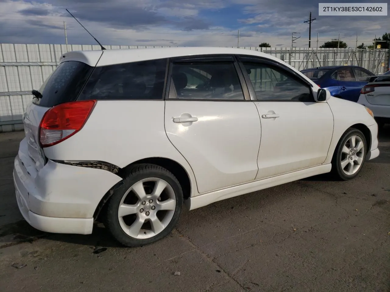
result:
[[[240,57],[241,68],[261,117],[256,179],[323,164],[333,134],[333,114],[315,102],[312,86],[278,62]]]

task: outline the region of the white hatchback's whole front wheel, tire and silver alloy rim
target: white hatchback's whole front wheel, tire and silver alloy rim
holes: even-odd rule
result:
[[[349,128],[340,138],[332,159],[332,172],[342,180],[355,178],[362,170],[367,153],[363,133]]]

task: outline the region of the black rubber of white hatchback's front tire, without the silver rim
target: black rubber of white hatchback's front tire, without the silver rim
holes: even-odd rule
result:
[[[363,160],[362,160],[362,164],[360,164],[360,168],[354,174],[347,175],[346,173],[344,173],[342,166],[341,166],[342,148],[343,148],[344,144],[346,144],[348,139],[350,137],[352,137],[353,135],[359,136],[360,139],[363,141],[363,144],[364,144]],[[355,129],[355,128],[348,128],[344,132],[344,134],[341,136],[340,141],[336,146],[335,152],[333,153],[332,174],[336,178],[338,178],[340,180],[344,180],[344,181],[355,178],[356,176],[358,176],[359,172],[363,168],[366,154],[367,154],[367,141],[366,141],[362,131]]]

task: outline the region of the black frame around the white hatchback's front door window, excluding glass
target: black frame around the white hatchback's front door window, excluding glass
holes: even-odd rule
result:
[[[245,81],[246,81],[246,85],[248,87],[248,91],[250,92],[250,95],[251,95],[251,100],[259,101],[259,102],[313,102],[313,103],[316,102],[316,100],[314,99],[314,94],[313,94],[313,90],[312,90],[313,85],[311,83],[309,83],[307,80],[303,79],[298,74],[296,74],[296,72],[289,69],[288,67],[281,65],[278,62],[275,62],[272,60],[267,60],[266,58],[261,58],[261,57],[259,57],[259,58],[257,58],[257,57],[242,58],[241,56],[239,58],[239,60],[240,60],[239,64],[240,64],[240,68],[241,68],[242,73],[246,72],[244,62],[254,63],[254,64],[256,64],[256,63],[264,64],[264,65],[270,67],[271,69],[272,69],[272,67],[277,68],[277,69],[281,70],[282,73],[283,73],[283,71],[287,72],[287,74],[286,74],[287,77],[291,76],[292,79],[294,79],[295,81],[306,86],[310,91],[310,97],[312,99],[311,101],[288,100],[288,99],[257,99],[256,92],[255,92],[255,89],[253,87],[252,81],[250,80],[249,74],[245,74],[244,75]]]

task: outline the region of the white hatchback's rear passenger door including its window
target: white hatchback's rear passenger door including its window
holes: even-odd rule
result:
[[[253,181],[261,123],[234,56],[176,58],[169,71],[165,130],[198,192]]]

